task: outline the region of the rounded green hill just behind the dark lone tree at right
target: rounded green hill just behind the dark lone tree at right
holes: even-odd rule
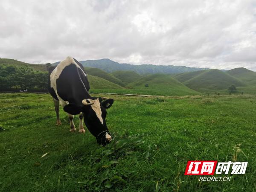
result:
[[[183,84],[193,90],[203,92],[224,90],[232,84],[236,87],[245,86],[245,84],[239,79],[236,79],[235,77],[216,69],[206,70],[204,73],[183,82]]]

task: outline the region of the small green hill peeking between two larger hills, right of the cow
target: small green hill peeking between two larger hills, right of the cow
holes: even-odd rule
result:
[[[125,85],[141,78],[141,76],[134,71],[115,71],[112,75],[117,79],[120,79]]]

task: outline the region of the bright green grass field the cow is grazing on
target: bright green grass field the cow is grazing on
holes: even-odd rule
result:
[[[62,109],[55,126],[49,94],[0,94],[0,191],[256,191],[256,96],[113,99],[102,147]],[[188,160],[234,158],[248,166],[230,181],[184,175]]]

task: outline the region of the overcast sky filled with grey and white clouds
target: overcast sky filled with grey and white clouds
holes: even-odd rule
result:
[[[255,0],[1,0],[0,57],[256,70]]]

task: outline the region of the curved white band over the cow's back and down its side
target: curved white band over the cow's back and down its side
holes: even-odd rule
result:
[[[62,70],[67,67],[68,65],[70,64],[75,64],[76,67],[80,68],[81,67],[76,63],[76,61],[68,56],[64,61],[61,61],[57,67],[55,67],[55,69],[52,71],[51,75],[50,75],[50,82],[51,82],[51,87],[53,88],[53,90],[55,91],[59,101],[60,101],[60,104],[62,107],[64,107],[65,105],[68,105],[69,102],[68,101],[64,101],[59,95],[58,95],[58,92],[57,92],[57,84],[56,84],[56,80],[59,78],[59,76],[61,75],[61,72]],[[84,73],[84,71],[81,69],[81,71]],[[86,74],[84,73],[84,75],[86,76]]]

